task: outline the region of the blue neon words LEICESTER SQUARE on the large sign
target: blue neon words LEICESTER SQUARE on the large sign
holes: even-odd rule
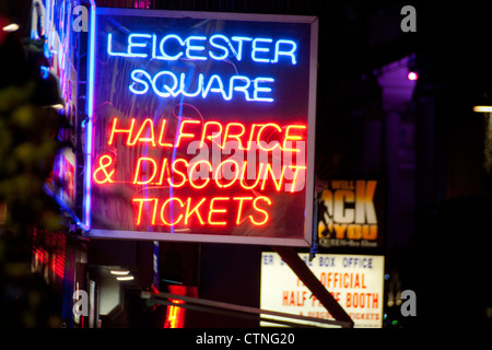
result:
[[[297,65],[297,44],[291,39],[269,37],[232,36],[222,34],[211,36],[190,35],[183,38],[177,34],[157,37],[155,34],[131,33],[115,40],[112,33],[107,34],[107,54],[113,57],[157,59],[165,61],[214,61],[235,59],[249,60],[262,67],[272,65]],[[236,70],[237,72],[237,70]],[[137,95],[143,95],[151,90],[160,97],[201,97],[203,100],[215,95],[224,101],[239,96],[248,102],[273,102],[273,83],[271,77],[222,77],[210,73],[198,74],[198,79],[187,79],[186,73],[161,70],[150,73],[145,69],[134,69],[130,72],[128,89]]]

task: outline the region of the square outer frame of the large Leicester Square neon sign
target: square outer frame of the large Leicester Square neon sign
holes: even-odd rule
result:
[[[91,2],[91,33],[90,33],[90,66],[89,66],[89,97],[87,97],[87,114],[90,116],[89,122],[87,122],[87,132],[86,132],[86,159],[85,159],[85,192],[84,192],[84,203],[83,208],[85,209],[85,224],[81,224],[80,226],[83,228],[85,231],[91,230],[91,188],[92,188],[92,154],[93,154],[93,113],[94,113],[94,95],[95,95],[95,86],[94,86],[94,77],[95,77],[95,28],[96,28],[96,7],[94,3],[95,0],[90,0]],[[102,8],[102,13],[105,14],[106,11],[109,10],[114,13],[118,14],[127,14],[127,12],[136,11],[133,9],[105,9]],[[138,10],[137,10],[138,11]],[[203,18],[203,19],[215,19],[215,20],[230,20],[231,13],[216,13],[216,12],[192,12],[192,11],[166,11],[166,10],[153,10],[153,14],[156,12],[165,13],[166,15],[171,15],[174,13],[175,18],[183,18],[187,16],[187,14],[194,13],[195,15],[200,14],[196,18]],[[140,15],[153,15],[153,14],[145,14],[145,12],[140,12]],[[266,244],[266,245],[288,245],[288,246],[298,246],[298,247],[308,247],[312,245],[313,242],[313,228],[314,223],[308,219],[312,218],[313,214],[313,192],[314,192],[314,127],[316,122],[316,85],[317,85],[317,74],[316,74],[316,66],[317,66],[317,56],[318,56],[318,19],[314,16],[300,16],[300,15],[270,15],[270,14],[237,14],[234,13],[234,15],[238,15],[239,21],[248,21],[251,19],[251,16],[256,18],[258,21],[280,21],[280,22],[302,22],[302,23],[311,23],[311,52],[309,52],[309,101],[308,101],[308,114],[307,114],[307,124],[308,124],[308,149],[312,149],[312,153],[307,153],[307,164],[311,164],[312,166],[308,167],[307,174],[306,174],[306,208],[305,208],[305,230],[304,230],[304,237],[303,238],[276,238],[276,237],[263,237],[259,238],[256,242],[239,242],[242,241],[242,236],[236,236],[234,240],[231,240],[231,236],[214,236],[210,234],[203,234],[203,235],[183,235],[181,234],[174,234],[171,235],[171,237],[174,236],[174,240],[163,240],[162,237],[155,236],[152,232],[140,232],[140,231],[107,231],[107,230],[95,230],[93,231],[90,236],[93,237],[114,237],[114,238],[134,238],[131,234],[138,233],[139,238],[144,238],[143,236],[149,235],[147,240],[153,240],[153,241],[180,241],[180,242],[215,242],[215,243],[244,243],[244,244]],[[311,156],[309,156],[311,155]],[[309,171],[311,170],[311,171]],[[121,234],[122,233],[122,234]],[[142,235],[143,233],[143,235]],[[130,236],[128,236],[130,234]],[[178,237],[179,236],[179,237]],[[201,241],[203,237],[207,237],[207,240]],[[225,237],[225,238],[224,238]],[[180,238],[180,240],[179,240]],[[256,237],[258,238],[258,237]]]

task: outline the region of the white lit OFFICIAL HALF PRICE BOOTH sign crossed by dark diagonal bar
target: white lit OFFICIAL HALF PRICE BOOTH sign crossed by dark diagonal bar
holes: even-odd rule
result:
[[[316,254],[312,261],[309,254],[301,253],[300,257],[345,310],[355,328],[383,327],[383,256]],[[261,255],[260,308],[333,319],[276,253],[266,252]],[[315,325],[312,322],[303,323]]]

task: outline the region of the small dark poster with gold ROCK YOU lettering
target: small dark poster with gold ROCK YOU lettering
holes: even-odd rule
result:
[[[378,182],[331,179],[319,200],[318,242],[324,247],[380,248]]]

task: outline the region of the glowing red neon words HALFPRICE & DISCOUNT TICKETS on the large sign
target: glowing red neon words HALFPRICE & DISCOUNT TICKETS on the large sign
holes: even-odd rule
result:
[[[237,229],[243,233],[243,226],[246,230],[259,229],[276,221],[273,215],[279,215],[279,210],[281,212],[282,198],[292,196],[289,192],[300,191],[305,185],[306,166],[288,165],[305,164],[304,153],[286,152],[303,152],[301,141],[306,139],[307,127],[271,120],[227,124],[184,118],[174,129],[174,121],[165,118],[124,119],[112,116],[106,121],[108,132],[103,133],[109,137],[105,147],[115,152],[101,153],[93,161],[94,184],[118,183],[127,186],[127,190],[140,194],[136,198],[130,197],[131,202],[128,200],[133,228],[138,231],[150,225],[157,225],[156,232],[165,232],[166,226],[186,226],[186,231],[199,234],[213,231],[218,231],[216,234],[236,234],[234,230]],[[199,142],[200,148],[204,143],[212,144],[212,151],[220,153],[220,158],[215,158],[213,152],[207,154],[206,151],[210,151],[207,147],[200,150],[207,155],[204,159],[201,156],[203,153],[192,158],[192,152],[174,149],[185,148],[191,141]],[[233,141],[234,152],[238,154],[226,155],[232,153],[229,153],[229,145],[224,150],[227,141]],[[163,149],[151,149],[151,144]],[[247,152],[249,150],[254,152]],[[125,168],[119,159],[120,163],[117,163],[116,155],[121,154],[125,162],[132,160],[130,170]],[[211,184],[213,182],[215,184]],[[173,191],[172,188],[180,189]],[[147,190],[147,195],[142,194]],[[276,199],[276,196],[280,198]]]

